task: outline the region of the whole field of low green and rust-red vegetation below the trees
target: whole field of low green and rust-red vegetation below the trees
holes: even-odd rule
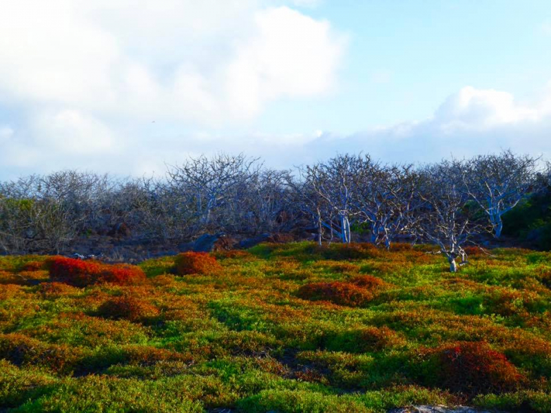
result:
[[[8,412],[551,412],[551,253],[261,244],[0,257]]]

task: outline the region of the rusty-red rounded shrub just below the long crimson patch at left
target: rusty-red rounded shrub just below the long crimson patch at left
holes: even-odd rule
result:
[[[98,315],[101,317],[129,321],[144,321],[158,314],[159,310],[153,304],[127,295],[108,299],[98,308]]]

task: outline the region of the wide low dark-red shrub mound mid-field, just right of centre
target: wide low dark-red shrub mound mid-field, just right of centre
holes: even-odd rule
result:
[[[340,306],[362,307],[373,299],[366,288],[346,282],[320,282],[306,284],[298,290],[298,296],[311,301],[331,301]]]

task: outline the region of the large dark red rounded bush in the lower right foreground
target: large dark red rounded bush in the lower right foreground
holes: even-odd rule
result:
[[[436,350],[441,388],[474,396],[517,390],[525,380],[505,354],[484,342],[463,341]]]

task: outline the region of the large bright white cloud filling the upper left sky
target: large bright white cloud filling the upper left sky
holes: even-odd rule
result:
[[[328,92],[344,39],[258,1],[6,0],[0,92],[109,116],[203,126]],[[94,115],[95,116],[95,115]]]

